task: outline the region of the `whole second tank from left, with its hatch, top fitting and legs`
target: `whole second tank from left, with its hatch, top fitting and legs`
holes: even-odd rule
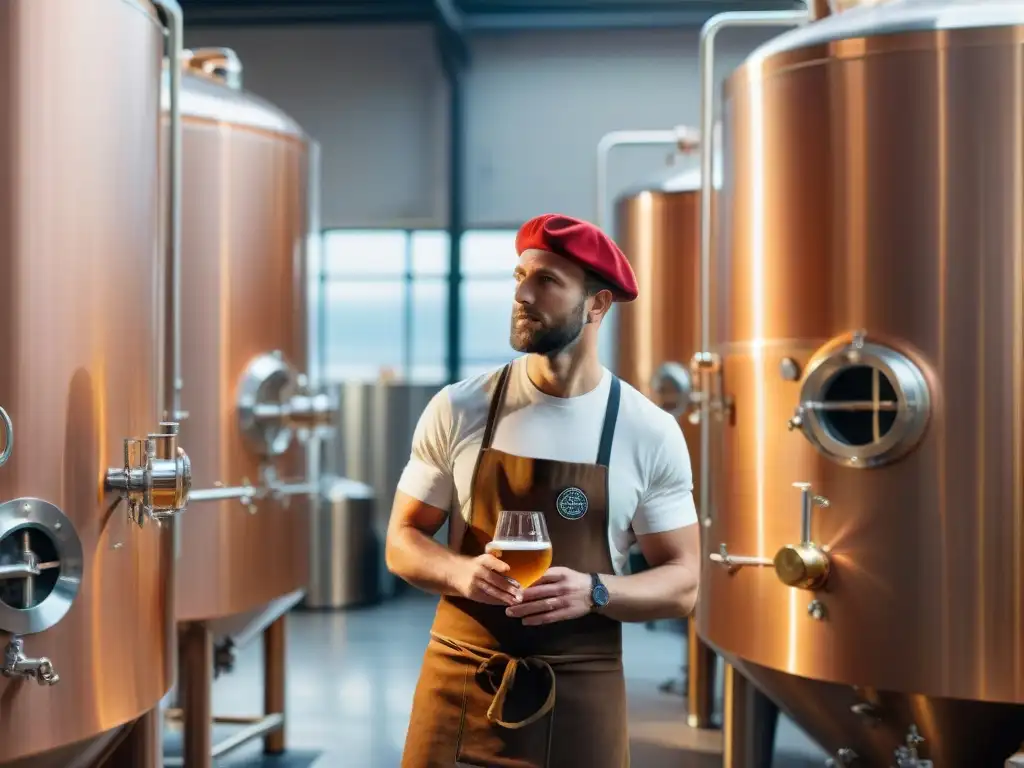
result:
[[[185,760],[200,766],[213,749],[205,659],[214,645],[229,657],[306,588],[317,490],[307,445],[333,408],[305,374],[316,145],[242,90],[231,51],[186,51],[183,67],[181,429],[199,452],[203,514],[183,524],[176,605]]]

